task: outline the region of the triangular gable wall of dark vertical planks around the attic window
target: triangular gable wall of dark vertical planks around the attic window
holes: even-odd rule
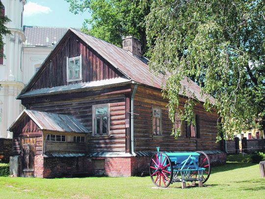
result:
[[[68,84],[99,81],[123,76],[96,51],[72,33],[61,47],[53,51],[44,63],[44,67],[40,68],[41,73],[38,75],[36,82],[28,90],[67,85],[67,57],[75,57],[80,54],[82,55],[82,80],[69,82]]]

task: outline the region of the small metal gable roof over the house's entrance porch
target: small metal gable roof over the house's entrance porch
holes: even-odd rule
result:
[[[38,125],[41,130],[88,133],[88,130],[74,116],[26,109],[22,111],[15,122],[9,127],[8,131],[12,131],[26,114]]]

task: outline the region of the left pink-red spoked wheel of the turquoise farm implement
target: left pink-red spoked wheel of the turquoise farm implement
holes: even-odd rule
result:
[[[165,153],[157,152],[152,156],[149,172],[153,183],[158,187],[166,188],[172,182],[172,163]]]

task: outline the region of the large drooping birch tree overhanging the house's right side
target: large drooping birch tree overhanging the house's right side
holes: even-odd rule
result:
[[[204,105],[220,115],[220,133],[265,128],[264,0],[154,0],[146,20],[149,66],[170,73],[163,94],[173,122],[187,76],[215,98]]]

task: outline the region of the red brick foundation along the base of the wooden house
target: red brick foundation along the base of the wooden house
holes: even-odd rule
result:
[[[212,165],[224,164],[225,153],[208,154]],[[129,177],[149,175],[151,156],[126,157],[44,157],[34,159],[34,177],[74,177],[104,175],[109,177]],[[97,160],[103,160],[98,161]]]

